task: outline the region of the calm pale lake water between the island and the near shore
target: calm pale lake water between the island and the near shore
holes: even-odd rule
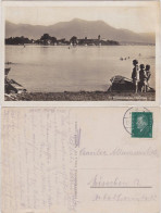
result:
[[[154,55],[153,46],[5,46],[5,62],[14,63],[9,77],[33,92],[107,90],[114,75],[131,78],[134,59],[151,65],[154,87]]]

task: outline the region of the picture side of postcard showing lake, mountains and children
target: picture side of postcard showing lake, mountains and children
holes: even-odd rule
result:
[[[2,2],[3,105],[159,103],[158,1]]]

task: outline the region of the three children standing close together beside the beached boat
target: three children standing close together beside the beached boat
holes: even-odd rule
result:
[[[147,92],[148,91],[148,82],[150,79],[151,73],[150,73],[150,65],[147,64],[146,67],[144,64],[140,64],[138,66],[138,61],[133,61],[133,73],[132,73],[132,79],[135,85],[135,92],[141,91]]]

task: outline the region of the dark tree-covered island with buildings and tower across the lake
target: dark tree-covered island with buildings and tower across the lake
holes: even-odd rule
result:
[[[117,46],[120,45],[115,40],[101,39],[100,35],[97,39],[92,38],[77,38],[73,36],[70,40],[65,38],[57,39],[55,37],[50,36],[49,34],[44,34],[40,39],[29,39],[22,37],[10,37],[5,38],[5,45],[44,45],[44,46]]]

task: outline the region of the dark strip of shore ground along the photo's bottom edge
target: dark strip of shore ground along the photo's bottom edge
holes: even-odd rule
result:
[[[154,101],[156,92],[64,91],[4,95],[5,101]]]

